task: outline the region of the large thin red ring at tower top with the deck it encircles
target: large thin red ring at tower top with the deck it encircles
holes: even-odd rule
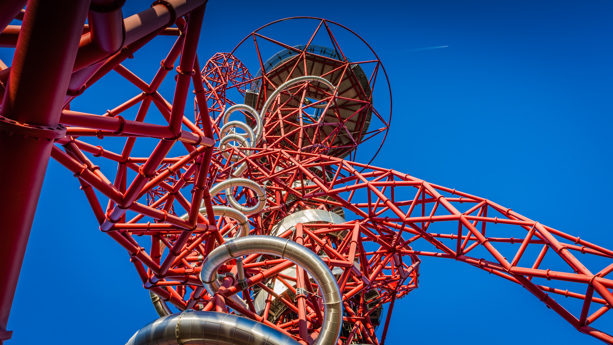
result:
[[[307,28],[305,20],[316,25],[303,44],[284,44],[286,37],[277,37],[286,33],[278,26],[291,21],[287,25]],[[292,36],[292,42],[299,40]],[[254,49],[249,50],[251,42]],[[364,49],[360,49],[362,44]],[[351,52],[354,60],[345,52]],[[383,145],[392,112],[389,80],[374,50],[351,29],[322,18],[285,18],[249,34],[230,54],[259,69],[244,103],[259,112],[264,122],[262,139],[268,147],[340,158],[352,154],[350,158],[355,159],[362,142],[378,138]],[[322,80],[286,85],[307,76]],[[385,79],[376,83],[377,76]],[[375,91],[377,107],[373,104]],[[389,115],[382,115],[388,111]],[[368,145],[368,153],[376,156],[381,145]]]

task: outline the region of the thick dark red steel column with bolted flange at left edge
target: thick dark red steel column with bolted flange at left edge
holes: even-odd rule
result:
[[[21,1],[15,2],[21,6]],[[59,114],[88,8],[87,0],[30,0],[17,41],[10,69],[13,82],[9,83],[2,99],[2,118],[44,127],[36,134],[38,138],[27,135],[26,127],[18,123],[5,122],[0,131],[0,161],[20,162],[19,174],[9,170],[1,173],[12,183],[5,186],[4,197],[0,200],[0,208],[6,212],[0,241],[0,281],[3,282],[0,288],[0,343],[11,336],[6,325],[53,139],[63,136],[63,127],[58,127]],[[66,20],[58,21],[57,18]],[[52,68],[41,72],[40,66]],[[33,94],[36,102],[32,101]]]

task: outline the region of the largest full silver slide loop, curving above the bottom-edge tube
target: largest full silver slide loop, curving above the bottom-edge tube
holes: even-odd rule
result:
[[[208,293],[213,295],[217,291],[213,284],[217,282],[217,270],[221,265],[248,254],[269,254],[286,258],[304,268],[313,277],[319,286],[318,295],[324,300],[323,325],[314,345],[336,344],[343,325],[343,298],[337,281],[330,268],[317,254],[289,239],[266,235],[247,236],[232,239],[215,248],[202,262],[200,272],[200,280]]]

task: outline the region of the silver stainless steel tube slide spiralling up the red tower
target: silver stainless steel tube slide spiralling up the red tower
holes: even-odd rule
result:
[[[265,114],[270,104],[276,96],[285,88],[295,83],[316,81],[323,83],[335,92],[336,88],[328,80],[317,76],[298,77],[283,83],[272,95],[270,95],[264,104],[262,114]],[[327,104],[318,104],[316,107],[326,107]],[[256,120],[256,128],[253,130],[246,123],[240,121],[229,122],[229,117],[235,110],[245,110],[249,112]],[[262,136],[262,119],[258,112],[252,107],[245,104],[236,104],[235,106],[226,109],[223,115],[224,126],[221,129],[219,150],[226,149],[229,142],[239,142],[242,147],[256,147],[257,141]],[[246,133],[235,133],[235,127],[242,128]],[[249,142],[246,140],[249,138]],[[245,155],[250,155],[250,150],[243,151]],[[230,161],[238,161],[241,159],[238,155],[224,153],[223,156]],[[245,171],[246,163],[234,169],[232,175],[240,176]],[[243,187],[253,190],[258,198],[256,205],[247,207],[238,203],[232,195],[232,188]],[[219,266],[226,263],[228,260],[242,259],[243,255],[248,254],[270,254],[281,258],[287,258],[296,265],[301,266],[307,271],[310,277],[319,286],[318,295],[321,295],[324,304],[324,320],[319,336],[314,345],[335,345],[340,334],[343,324],[343,299],[337,285],[337,281],[328,266],[314,252],[306,247],[289,241],[289,239],[281,239],[275,236],[248,236],[249,222],[245,214],[254,214],[261,212],[266,206],[266,193],[261,185],[253,180],[242,179],[235,177],[219,182],[210,189],[210,195],[215,196],[222,190],[226,190],[226,198],[232,207],[213,206],[215,215],[230,217],[237,221],[240,229],[237,231],[234,239],[226,240],[226,244],[214,249],[202,263],[202,271],[200,272],[200,280],[202,280],[204,289],[211,295],[215,294],[220,287],[218,281],[217,270]],[[205,213],[205,207],[200,208],[200,212]],[[181,218],[186,219],[188,214],[181,215]],[[330,222],[343,223],[345,220],[340,215],[324,210],[303,210],[296,212],[281,220],[278,225],[273,228],[273,234],[280,235],[283,231],[296,225],[297,223],[313,223],[313,222]],[[242,269],[241,269],[242,271]],[[242,273],[242,272],[241,272]],[[242,274],[239,279],[242,278]],[[200,288],[194,293],[200,295]],[[243,308],[248,309],[245,301],[238,295],[230,297],[235,303],[240,304]],[[132,336],[128,341],[129,345],[144,345],[144,344],[227,344],[227,345],[297,345],[297,341],[284,335],[280,331],[270,328],[259,322],[255,322],[245,317],[219,312],[196,312],[192,309],[177,314],[170,314],[170,309],[166,303],[157,295],[151,293],[151,301],[154,304],[160,319],[151,322]],[[188,301],[188,308],[194,306],[195,300]],[[127,344],[127,345],[128,345]]]

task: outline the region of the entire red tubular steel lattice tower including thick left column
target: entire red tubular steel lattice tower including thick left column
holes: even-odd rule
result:
[[[254,42],[256,74],[235,52],[216,54],[198,73],[196,47],[205,1],[156,1],[123,21],[118,20],[123,18],[121,1],[50,5],[32,0],[23,15],[24,6],[2,4],[0,11],[4,26],[15,17],[23,19],[23,26],[8,26],[0,35],[3,46],[17,47],[12,66],[0,66],[0,139],[2,160],[23,165],[23,175],[13,177],[7,193],[28,195],[1,201],[10,231],[0,250],[7,263],[0,271],[0,341],[10,338],[10,305],[51,157],[78,179],[100,230],[128,250],[161,316],[170,312],[166,302],[179,311],[234,312],[313,344],[324,324],[321,292],[287,258],[250,254],[229,260],[216,271],[215,291],[199,277],[208,255],[229,238],[268,235],[306,247],[331,269],[344,308],[338,344],[383,345],[395,300],[419,285],[421,256],[451,258],[520,284],[577,330],[613,344],[610,335],[593,328],[613,305],[608,290],[613,280],[606,278],[613,263],[590,270],[576,257],[611,259],[612,250],[485,198],[344,159],[351,153],[355,157],[357,146],[376,134],[384,137],[389,118],[373,105],[374,98],[384,96],[378,90],[386,84],[376,84],[379,71],[385,72],[383,64],[376,55],[349,60],[332,29],[343,26],[310,18],[316,22],[314,33],[295,47],[265,36],[260,28],[241,42]],[[72,20],[56,25],[60,38],[48,40],[49,14],[59,12]],[[86,16],[90,25],[84,28]],[[329,37],[328,47],[313,43],[320,31]],[[177,36],[177,41],[145,82],[121,63],[158,35]],[[281,52],[265,60],[264,41]],[[59,68],[34,76],[42,55]],[[361,67],[367,64],[374,66],[370,76]],[[102,115],[70,109],[73,98],[112,70],[142,92]],[[172,102],[158,91],[169,72],[176,80]],[[32,88],[32,80],[45,101],[29,101],[25,90]],[[184,115],[191,85],[193,121]],[[389,83],[383,88],[389,89]],[[230,93],[241,99],[232,101]],[[146,122],[152,103],[167,125]],[[123,117],[131,107],[138,107],[135,118]],[[232,109],[246,125],[229,122],[224,115]],[[368,128],[373,116],[382,123],[374,130]],[[235,128],[247,134],[254,130],[247,140]],[[80,138],[94,136],[124,141],[122,152]],[[159,139],[148,157],[132,157],[138,138]],[[170,157],[176,145],[185,154]],[[115,161],[118,168],[102,171],[97,160]],[[240,179],[256,185],[216,187]],[[108,198],[105,206],[101,195]],[[249,207],[255,211],[227,211]],[[141,245],[141,236],[150,239],[150,249]],[[536,257],[532,247],[538,247]],[[559,258],[565,269],[541,267],[545,255]],[[537,284],[544,279],[562,285]],[[584,285],[563,289],[568,282]],[[581,311],[572,314],[554,295],[584,301]],[[381,339],[375,335],[379,322]]]

